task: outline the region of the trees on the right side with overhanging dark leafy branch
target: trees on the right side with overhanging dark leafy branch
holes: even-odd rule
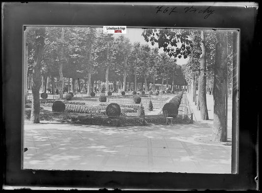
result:
[[[198,109],[203,120],[208,120],[206,91],[210,90],[213,93],[212,138],[213,141],[227,141],[228,87],[233,83],[233,66],[238,65],[238,32],[147,29],[143,35],[152,45],[158,43],[159,48],[164,48],[170,57],[190,57],[189,63],[182,67],[188,92],[192,93],[191,96],[196,100],[198,79]],[[209,88],[206,88],[206,82],[209,83]],[[233,87],[237,86],[236,84],[234,82]]]

